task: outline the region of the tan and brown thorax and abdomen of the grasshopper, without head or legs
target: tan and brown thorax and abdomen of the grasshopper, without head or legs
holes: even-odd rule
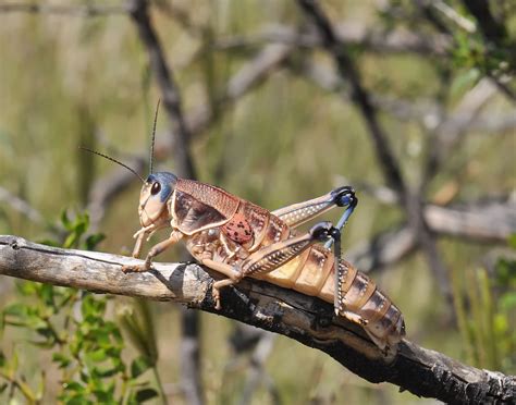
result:
[[[282,241],[295,235],[285,222],[266,209],[221,188],[189,180],[177,180],[170,211],[172,225],[186,235],[186,247],[201,262],[210,259],[241,267],[251,254],[273,244],[278,248]],[[201,219],[195,221],[199,212]],[[334,303],[334,260],[330,249],[314,244],[281,267],[270,270],[262,265],[248,277]],[[340,315],[360,323],[381,348],[394,346],[404,334],[400,309],[366,274],[344,260],[340,266],[344,274],[341,304],[345,310]]]

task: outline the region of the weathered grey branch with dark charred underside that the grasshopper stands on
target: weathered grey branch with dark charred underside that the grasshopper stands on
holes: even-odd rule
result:
[[[61,249],[0,236],[0,274],[96,293],[119,294],[185,304],[286,335],[318,348],[370,382],[391,382],[416,395],[449,403],[509,402],[516,378],[463,365],[441,353],[403,341],[384,356],[354,324],[332,317],[331,305],[256,280],[223,291],[223,308],[214,310],[212,272],[195,263],[156,263],[148,273],[124,274],[136,259]],[[408,334],[409,334],[408,329]]]

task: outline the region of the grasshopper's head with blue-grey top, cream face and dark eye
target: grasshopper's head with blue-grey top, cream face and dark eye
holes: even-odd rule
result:
[[[168,201],[175,188],[177,177],[169,172],[150,174],[139,194],[139,222],[142,226],[159,225],[170,221]]]

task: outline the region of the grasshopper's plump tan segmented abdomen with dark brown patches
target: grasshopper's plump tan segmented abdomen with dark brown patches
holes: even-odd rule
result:
[[[341,308],[340,315],[361,324],[371,340],[380,347],[394,347],[405,335],[401,310],[380,291],[374,281],[359,272],[345,260],[340,261]],[[270,283],[317,296],[334,303],[334,256],[330,249],[314,245],[286,265],[269,272],[251,275]],[[358,317],[356,317],[358,316]]]

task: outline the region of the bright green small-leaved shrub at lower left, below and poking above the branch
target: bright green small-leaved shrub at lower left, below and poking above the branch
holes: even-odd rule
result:
[[[64,247],[93,249],[103,238],[86,236],[87,214],[70,219],[63,212],[61,222],[66,230]],[[0,314],[0,333],[8,327],[23,329],[30,336],[24,344],[52,353],[52,363],[61,372],[56,391],[62,403],[137,404],[158,396],[144,378],[156,367],[157,353],[152,358],[142,353],[131,363],[124,359],[121,329],[107,317],[109,297],[33,282],[17,284],[17,294],[21,299]],[[37,376],[29,376],[27,382],[21,365],[28,358],[23,358],[21,346],[9,354],[0,349],[0,398],[4,395],[13,401],[21,395],[27,403],[41,403],[45,372],[34,389]]]

